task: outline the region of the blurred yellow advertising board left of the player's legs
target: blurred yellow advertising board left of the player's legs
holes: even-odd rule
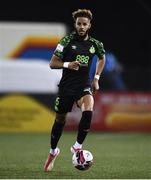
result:
[[[38,96],[33,96],[0,96],[0,132],[50,132],[55,114]]]

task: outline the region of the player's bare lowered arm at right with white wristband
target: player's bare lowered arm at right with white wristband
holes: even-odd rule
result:
[[[101,73],[103,71],[104,65],[105,65],[105,55],[103,55],[102,58],[100,58],[97,61],[96,72],[94,75],[94,79],[92,81],[92,88],[93,88],[94,93],[97,90],[99,90],[99,79],[100,79]]]

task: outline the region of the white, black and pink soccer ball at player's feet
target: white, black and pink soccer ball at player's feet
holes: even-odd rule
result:
[[[79,150],[73,154],[72,163],[79,170],[88,170],[93,164],[93,155],[88,150]]]

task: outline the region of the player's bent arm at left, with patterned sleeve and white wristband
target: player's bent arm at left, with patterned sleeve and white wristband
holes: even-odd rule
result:
[[[59,44],[56,47],[56,50],[54,52],[54,55],[52,56],[50,60],[50,68],[51,69],[61,69],[61,68],[68,68],[72,70],[78,70],[80,63],[78,61],[72,61],[72,62],[64,62],[64,54],[67,50],[67,46],[72,40],[72,35],[65,36],[62,38],[59,42]]]

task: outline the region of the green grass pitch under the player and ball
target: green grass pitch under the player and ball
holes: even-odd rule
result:
[[[49,134],[0,134],[0,179],[150,179],[151,134],[89,133],[84,149],[94,156],[87,171],[72,166],[75,133],[64,132],[52,172],[43,172]]]

